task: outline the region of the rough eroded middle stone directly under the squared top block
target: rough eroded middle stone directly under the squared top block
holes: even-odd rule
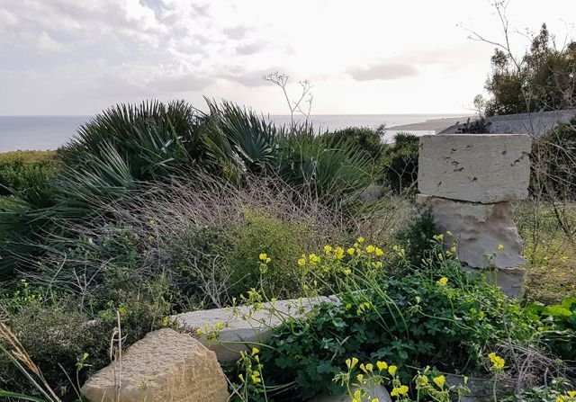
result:
[[[419,194],[417,201],[432,210],[437,228],[450,231],[454,237],[445,237],[446,246],[458,243],[458,258],[475,268],[517,268],[527,264],[522,257],[522,239],[512,221],[509,202],[480,204],[453,201],[446,198]],[[504,248],[499,251],[499,246]],[[484,255],[497,253],[488,264]]]

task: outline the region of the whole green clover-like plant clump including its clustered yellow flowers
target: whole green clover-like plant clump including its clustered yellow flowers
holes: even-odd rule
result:
[[[302,256],[298,264],[309,289],[331,280],[339,303],[322,303],[307,317],[284,317],[271,339],[257,345],[257,379],[247,378],[243,371],[245,354],[230,369],[234,387],[249,389],[248,400],[306,400],[327,389],[342,393],[346,389],[335,379],[343,371],[351,372],[350,361],[374,367],[376,362],[393,364],[398,384],[410,383],[426,367],[482,377],[506,365],[502,380],[525,384],[545,370],[557,373],[554,358],[529,365],[515,354],[516,348],[524,348],[545,356],[539,348],[540,321],[496,286],[465,273],[454,253],[441,251],[439,240],[436,258],[425,262],[427,270],[400,278],[390,277],[383,268],[391,259],[400,259],[410,269],[399,246],[386,253],[358,238],[347,249],[327,246],[320,255]],[[257,301],[254,308],[263,307]],[[491,354],[497,351],[503,358]],[[369,375],[359,367],[352,372],[349,379]],[[409,392],[415,389],[407,388],[406,395]]]

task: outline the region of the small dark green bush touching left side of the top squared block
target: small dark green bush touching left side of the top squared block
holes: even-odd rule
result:
[[[413,134],[398,133],[394,144],[383,156],[384,183],[401,194],[413,191],[418,180],[419,138]]]

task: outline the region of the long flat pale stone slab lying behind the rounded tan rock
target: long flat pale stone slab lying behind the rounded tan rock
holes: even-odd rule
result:
[[[213,308],[171,318],[179,327],[191,330],[193,334],[200,329],[202,335],[198,335],[198,340],[216,353],[220,362],[228,362],[238,359],[238,353],[247,350],[250,344],[266,341],[272,330],[282,323],[283,317],[301,317],[321,302],[338,302],[338,299],[279,300],[264,303],[259,309],[246,306]],[[218,333],[218,338],[214,340],[212,335],[215,333]]]

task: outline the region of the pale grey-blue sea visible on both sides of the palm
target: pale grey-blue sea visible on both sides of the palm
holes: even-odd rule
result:
[[[400,126],[423,121],[459,116],[457,114],[317,114],[310,122],[319,132],[347,127],[378,128]],[[76,134],[77,128],[92,116],[0,116],[0,152],[19,149],[57,149]],[[269,115],[277,125],[289,125],[291,116]],[[297,118],[294,119],[298,121]],[[390,142],[398,130],[386,130],[383,141]],[[405,130],[403,130],[405,131]],[[433,133],[411,130],[413,134]]]

